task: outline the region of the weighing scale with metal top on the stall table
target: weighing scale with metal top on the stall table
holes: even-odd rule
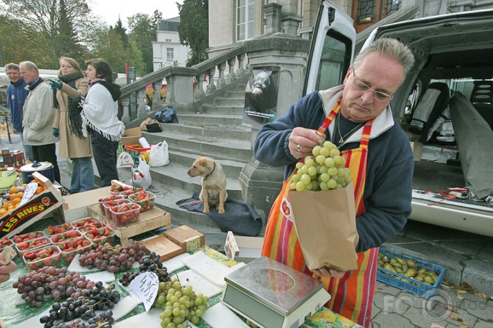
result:
[[[320,280],[265,256],[224,280],[221,302],[264,328],[298,328],[330,300]]]

